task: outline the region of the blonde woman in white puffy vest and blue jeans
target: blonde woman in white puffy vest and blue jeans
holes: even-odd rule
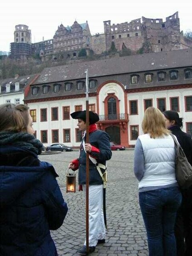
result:
[[[146,109],[142,129],[144,135],[135,145],[134,174],[149,256],[176,256],[174,224],[182,195],[175,178],[174,141],[157,108]]]

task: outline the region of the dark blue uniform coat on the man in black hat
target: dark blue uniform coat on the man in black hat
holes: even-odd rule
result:
[[[110,138],[109,135],[103,130],[94,130],[89,133],[89,143],[99,149],[100,152],[91,152],[97,163],[106,165],[106,160],[109,160],[112,156],[110,150]],[[86,184],[86,152],[80,146],[80,156],[79,156],[79,184]],[[96,169],[95,164],[89,160],[89,184],[90,185],[100,185],[103,184],[101,176]]]

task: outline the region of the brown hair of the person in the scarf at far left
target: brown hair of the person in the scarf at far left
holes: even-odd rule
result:
[[[0,131],[27,131],[29,107],[23,104],[0,105]]]

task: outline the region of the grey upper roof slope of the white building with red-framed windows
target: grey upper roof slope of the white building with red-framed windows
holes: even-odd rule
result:
[[[192,67],[192,49],[145,53],[45,68],[34,84],[82,79],[86,77],[86,69],[88,69],[89,77],[94,78],[190,66]]]

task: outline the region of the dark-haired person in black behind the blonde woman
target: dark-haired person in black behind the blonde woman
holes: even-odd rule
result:
[[[164,111],[163,115],[167,128],[177,137],[188,162],[192,165],[192,138],[181,130],[182,118],[179,118],[176,111]],[[192,256],[192,187],[182,189],[181,192],[182,205],[175,223],[177,255]]]

